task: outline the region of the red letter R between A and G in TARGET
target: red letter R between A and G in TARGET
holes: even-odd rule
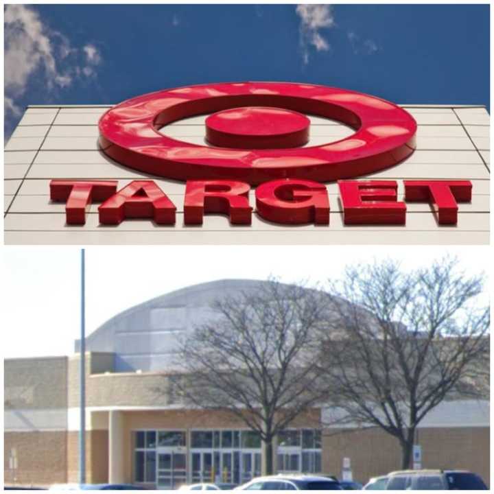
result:
[[[250,224],[249,190],[250,185],[234,180],[188,180],[184,223],[202,224],[204,213],[224,213],[232,224]]]

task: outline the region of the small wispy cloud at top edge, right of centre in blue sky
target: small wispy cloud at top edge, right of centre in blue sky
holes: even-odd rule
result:
[[[300,17],[300,40],[304,63],[309,63],[309,49],[329,51],[330,45],[320,30],[336,26],[331,5],[297,5],[296,14]]]

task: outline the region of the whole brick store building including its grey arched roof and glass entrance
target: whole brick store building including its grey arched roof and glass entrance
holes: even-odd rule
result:
[[[185,482],[239,484],[261,473],[261,441],[244,423],[177,404],[169,368],[176,334],[214,315],[225,293],[260,281],[203,283],[117,314],[86,338],[88,482],[169,489]],[[79,342],[70,357],[5,360],[5,484],[78,481]],[[277,438],[278,471],[353,478],[399,469],[397,441],[380,430],[320,429],[325,409],[299,417]],[[470,469],[489,483],[489,401],[446,401],[421,423],[427,468]]]

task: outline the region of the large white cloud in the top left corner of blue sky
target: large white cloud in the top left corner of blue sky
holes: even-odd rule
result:
[[[51,30],[38,12],[26,5],[7,5],[4,21],[5,117],[19,117],[18,99],[32,80],[47,93],[54,93],[71,86],[81,75],[94,76],[93,67],[102,62],[95,45],[73,47],[66,36]],[[87,67],[89,73],[84,70]]]

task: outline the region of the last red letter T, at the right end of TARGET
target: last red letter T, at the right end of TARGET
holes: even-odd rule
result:
[[[403,180],[405,200],[436,204],[439,224],[458,223],[458,204],[470,202],[470,180]]]

